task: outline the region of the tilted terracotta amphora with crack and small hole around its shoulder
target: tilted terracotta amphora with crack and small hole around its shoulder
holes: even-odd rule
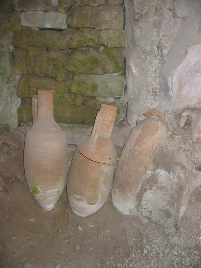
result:
[[[117,107],[101,105],[90,139],[80,144],[73,156],[67,182],[70,206],[85,217],[105,203],[112,184],[117,151],[111,140]]]

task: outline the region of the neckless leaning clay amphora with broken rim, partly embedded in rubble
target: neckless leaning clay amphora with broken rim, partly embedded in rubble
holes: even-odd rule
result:
[[[124,215],[136,213],[142,177],[152,168],[154,155],[166,137],[165,116],[155,109],[144,115],[147,118],[131,130],[114,175],[112,201]]]

